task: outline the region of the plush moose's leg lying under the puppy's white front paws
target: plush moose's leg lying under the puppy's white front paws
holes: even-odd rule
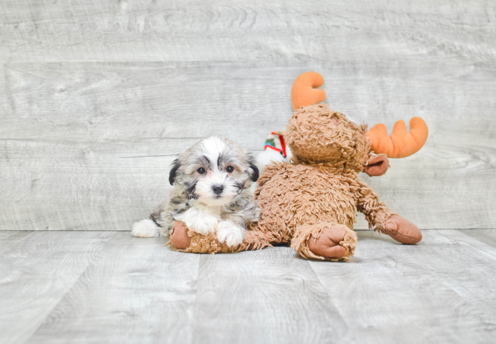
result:
[[[225,243],[220,243],[215,233],[206,235],[198,234],[190,231],[184,222],[181,221],[176,221],[174,224],[170,239],[174,249],[192,253],[239,252],[272,246],[270,244],[270,233],[265,233],[257,229],[246,231],[241,244],[229,247]]]

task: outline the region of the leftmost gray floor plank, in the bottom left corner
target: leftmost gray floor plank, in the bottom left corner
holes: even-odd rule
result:
[[[0,342],[25,342],[114,234],[0,232]]]

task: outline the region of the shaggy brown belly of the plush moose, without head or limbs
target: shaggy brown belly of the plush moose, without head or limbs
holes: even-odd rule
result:
[[[262,221],[291,235],[305,223],[335,222],[353,228],[357,201],[352,182],[315,166],[288,164],[260,190]]]

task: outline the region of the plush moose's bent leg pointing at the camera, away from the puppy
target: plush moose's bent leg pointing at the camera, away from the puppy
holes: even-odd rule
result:
[[[330,261],[350,259],[355,246],[355,232],[329,222],[301,225],[291,240],[291,247],[303,257]]]

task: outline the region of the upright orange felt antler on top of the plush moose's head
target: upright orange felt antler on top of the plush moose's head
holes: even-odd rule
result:
[[[291,104],[293,105],[293,110],[323,101],[325,99],[325,91],[315,89],[323,84],[324,78],[319,73],[305,72],[298,75],[295,82],[293,82],[293,88],[291,89]]]

